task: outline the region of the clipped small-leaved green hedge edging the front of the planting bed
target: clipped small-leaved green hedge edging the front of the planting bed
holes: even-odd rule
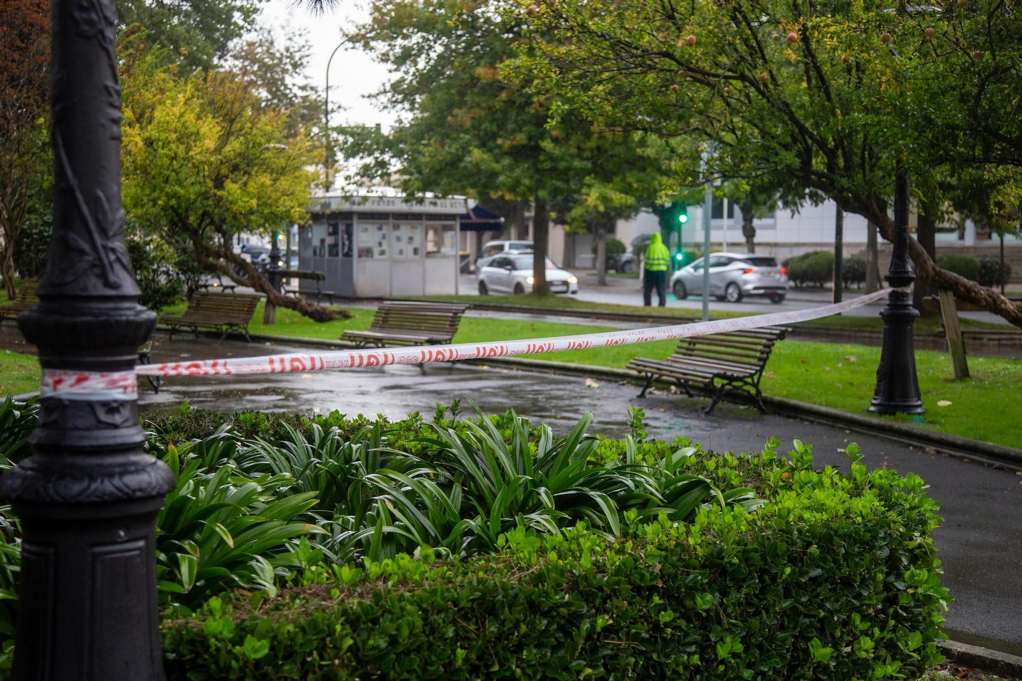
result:
[[[621,537],[522,528],[494,554],[319,565],[276,597],[235,592],[165,622],[171,679],[916,678],[949,600],[922,480],[702,452],[685,473],[744,482],[748,511],[624,513]],[[668,454],[669,458],[669,454]]]

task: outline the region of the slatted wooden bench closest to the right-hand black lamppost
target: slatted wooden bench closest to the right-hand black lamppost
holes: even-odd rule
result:
[[[726,395],[742,392],[753,399],[759,411],[765,413],[759,380],[770,359],[774,344],[784,338],[787,328],[763,328],[729,333],[714,333],[692,338],[682,338],[675,354],[665,360],[633,358],[629,368],[647,376],[639,397],[657,378],[676,380],[692,397],[691,384],[709,391],[713,401],[706,408],[709,414]]]

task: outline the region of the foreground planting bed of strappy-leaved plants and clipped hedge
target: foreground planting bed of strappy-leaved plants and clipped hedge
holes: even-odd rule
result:
[[[936,660],[949,597],[917,475],[868,472],[854,445],[842,474],[798,441],[647,441],[641,409],[623,440],[460,411],[148,423],[177,482],[155,537],[171,677],[913,678]],[[34,416],[0,404],[3,467]]]

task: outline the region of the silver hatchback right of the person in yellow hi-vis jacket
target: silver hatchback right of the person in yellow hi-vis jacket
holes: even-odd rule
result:
[[[670,289],[679,300],[702,296],[703,259],[675,272]],[[714,253],[709,257],[709,294],[718,301],[738,303],[750,296],[764,296],[781,303],[788,294],[788,271],[772,256]]]

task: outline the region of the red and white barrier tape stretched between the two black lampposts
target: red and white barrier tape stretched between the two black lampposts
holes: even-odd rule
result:
[[[165,362],[136,367],[141,376],[211,376],[223,374],[286,373],[289,371],[321,371],[324,369],[355,369],[389,364],[423,364],[427,362],[453,362],[456,360],[485,359],[509,355],[532,355],[563,350],[607,348],[636,343],[669,340],[711,333],[726,333],[762,326],[780,326],[819,319],[868,305],[891,292],[884,288],[875,293],[828,305],[822,308],[795,312],[776,312],[754,317],[738,317],[716,321],[676,324],[656,328],[639,328],[625,331],[605,331],[582,335],[562,335],[553,338],[527,340],[495,340],[492,343],[463,343],[447,346],[412,348],[378,348],[367,350],[338,350],[325,353],[294,353],[264,357],[196,360],[193,362]]]

